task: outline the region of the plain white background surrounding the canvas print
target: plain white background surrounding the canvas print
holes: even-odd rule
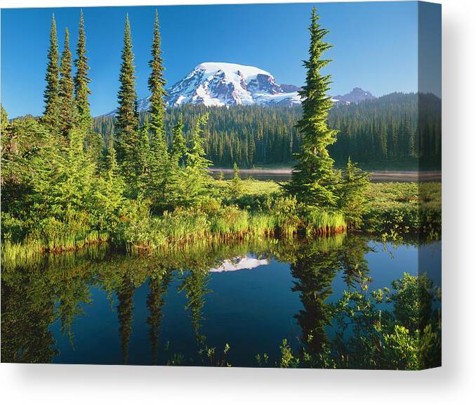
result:
[[[1,7],[227,2],[251,1],[2,0]],[[442,368],[396,372],[1,364],[2,403],[476,404],[476,1],[440,3],[443,5]]]

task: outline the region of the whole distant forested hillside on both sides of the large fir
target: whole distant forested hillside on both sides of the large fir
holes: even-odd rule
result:
[[[348,157],[369,168],[439,168],[441,159],[441,100],[434,95],[392,93],[358,104],[336,105],[329,112],[329,126],[338,129],[330,146],[338,166]],[[205,133],[207,158],[216,167],[290,166],[300,150],[295,128],[301,107],[204,107],[184,105],[169,108],[164,116],[166,139],[183,114],[185,134],[190,139],[193,123],[209,112]],[[421,136],[417,136],[418,112]],[[144,121],[146,113],[140,114]],[[105,145],[114,133],[114,117],[94,119],[95,131],[103,134]],[[418,140],[419,139],[419,140]]]

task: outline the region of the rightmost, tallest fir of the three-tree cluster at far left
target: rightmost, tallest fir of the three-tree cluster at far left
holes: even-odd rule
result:
[[[84,16],[82,10],[79,18],[76,54],[77,58],[74,60],[74,66],[76,67],[76,74],[74,75],[74,96],[78,109],[78,124],[84,133],[88,133],[91,128],[91,112],[88,100],[88,95],[91,94],[88,84],[91,83],[91,79],[88,77],[89,66],[86,56],[86,34],[84,32]]]

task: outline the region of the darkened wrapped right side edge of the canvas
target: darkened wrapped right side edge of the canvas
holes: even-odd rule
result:
[[[441,366],[442,8],[418,2],[418,297],[421,369]],[[437,208],[437,209],[435,209]],[[434,218],[435,215],[437,218]],[[436,298],[436,299],[435,299]]]

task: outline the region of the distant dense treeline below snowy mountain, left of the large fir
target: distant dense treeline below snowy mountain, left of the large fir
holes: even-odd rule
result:
[[[300,108],[260,106],[205,107],[203,105],[183,105],[168,108],[164,114],[166,140],[171,145],[171,128],[183,116],[184,135],[190,139],[197,117],[209,114],[204,147],[206,157],[214,166],[253,166],[264,163],[290,164],[293,153],[298,152],[299,142],[295,128],[300,117]],[[145,121],[147,112],[140,113],[140,121]],[[114,134],[114,117],[95,117],[94,130],[107,139]]]

